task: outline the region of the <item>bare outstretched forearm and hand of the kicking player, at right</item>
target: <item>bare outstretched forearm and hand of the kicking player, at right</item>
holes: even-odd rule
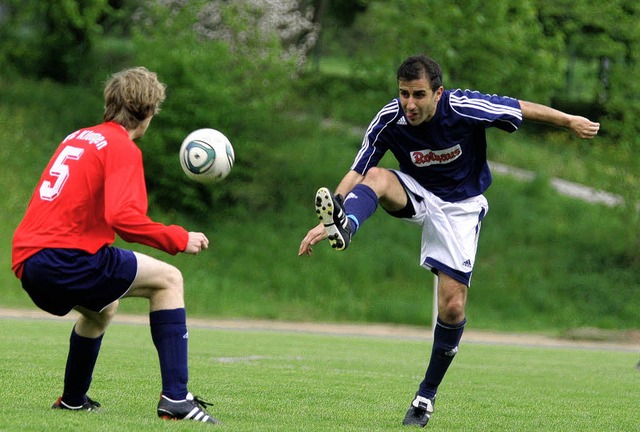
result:
[[[595,138],[600,130],[600,123],[593,122],[586,117],[567,114],[534,102],[519,102],[524,119],[569,129],[578,138]]]

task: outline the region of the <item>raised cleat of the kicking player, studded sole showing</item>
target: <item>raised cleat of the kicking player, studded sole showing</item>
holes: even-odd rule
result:
[[[342,195],[334,197],[327,188],[320,188],[316,192],[316,213],[327,231],[329,244],[335,250],[345,250],[351,243],[351,222],[342,201]]]

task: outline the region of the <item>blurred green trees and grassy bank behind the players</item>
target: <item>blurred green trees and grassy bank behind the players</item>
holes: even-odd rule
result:
[[[102,119],[102,86],[144,65],[168,85],[140,140],[150,211],[202,230],[212,250],[168,257],[190,313],[429,325],[419,232],[374,215],[343,254],[296,256],[363,132],[395,97],[395,70],[427,53],[445,87],[550,104],[600,121],[594,141],[525,124],[489,131],[496,176],[469,297],[475,328],[640,328],[640,5],[623,0],[0,0],[0,304],[33,307],[10,271],[11,235],[57,143]],[[236,151],[223,183],[181,172],[177,150],[213,127]],[[392,160],[384,161],[394,166]],[[561,177],[619,195],[559,196]],[[119,245],[125,246],[120,241]],[[123,302],[144,312],[145,304]]]

